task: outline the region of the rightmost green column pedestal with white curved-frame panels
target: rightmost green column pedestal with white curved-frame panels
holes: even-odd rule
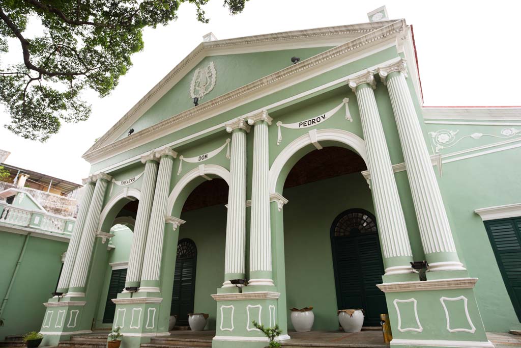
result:
[[[474,295],[477,278],[378,284],[386,295],[391,347],[492,348]]]

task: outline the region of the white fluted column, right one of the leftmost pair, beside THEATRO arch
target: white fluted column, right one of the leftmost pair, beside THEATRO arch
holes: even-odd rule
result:
[[[94,247],[96,232],[98,224],[100,223],[100,213],[103,208],[103,200],[105,198],[108,182],[112,177],[105,173],[100,173],[93,175],[92,178],[96,181],[96,186],[94,187],[89,213],[85,220],[76,262],[72,270],[68,292],[69,296],[83,296],[85,293],[85,285],[92,259],[92,249]]]

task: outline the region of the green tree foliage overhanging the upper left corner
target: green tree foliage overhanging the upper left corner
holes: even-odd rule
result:
[[[143,50],[145,27],[177,19],[181,3],[196,6],[197,20],[207,23],[202,6],[209,0],[5,0],[0,3],[0,54],[7,38],[17,38],[20,63],[0,68],[0,103],[11,115],[5,127],[24,138],[45,141],[61,122],[89,118],[84,89],[105,97]],[[225,0],[231,14],[247,0]],[[44,31],[27,38],[28,18]],[[17,48],[18,49],[18,48]]]

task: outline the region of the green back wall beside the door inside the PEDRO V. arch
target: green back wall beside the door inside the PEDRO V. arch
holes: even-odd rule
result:
[[[338,330],[330,229],[334,218],[351,208],[374,213],[373,199],[360,173],[338,176],[284,190],[286,297],[292,307],[313,306],[313,330]],[[291,330],[288,311],[288,328]]]

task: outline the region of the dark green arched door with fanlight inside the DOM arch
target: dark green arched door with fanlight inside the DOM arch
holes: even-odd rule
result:
[[[194,310],[197,248],[194,241],[183,238],[177,244],[176,270],[173,276],[170,315],[177,315],[177,326],[188,326]]]

